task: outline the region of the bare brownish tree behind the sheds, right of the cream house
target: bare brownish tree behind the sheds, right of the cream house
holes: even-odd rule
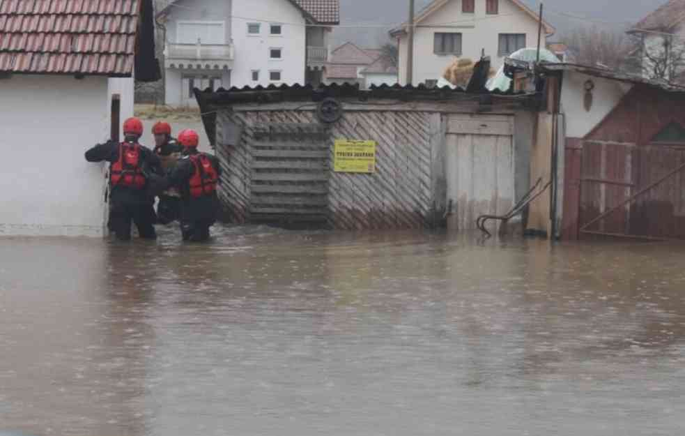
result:
[[[631,52],[631,42],[622,31],[577,27],[562,38],[575,63],[622,70]]]

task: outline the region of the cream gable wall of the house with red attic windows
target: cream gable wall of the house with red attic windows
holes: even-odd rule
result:
[[[504,57],[498,55],[500,33],[525,33],[528,47],[537,46],[538,22],[518,6],[508,0],[500,0],[499,14],[487,15],[486,2],[475,2],[475,13],[463,14],[461,0],[449,1],[445,6],[420,22],[414,38],[413,84],[426,80],[438,80],[445,68],[454,61],[453,55],[433,53],[434,34],[436,32],[456,32],[462,36],[462,58],[477,61],[484,49],[485,55],[492,61],[492,68],[502,66]],[[445,27],[451,23],[450,27]],[[544,31],[543,31],[544,33]],[[541,41],[546,44],[543,34]],[[401,37],[399,47],[399,82],[406,84],[408,38]]]

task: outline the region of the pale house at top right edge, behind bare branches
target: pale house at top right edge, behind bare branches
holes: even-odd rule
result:
[[[685,71],[685,0],[670,0],[628,31],[638,39],[638,70],[649,79],[681,80]]]

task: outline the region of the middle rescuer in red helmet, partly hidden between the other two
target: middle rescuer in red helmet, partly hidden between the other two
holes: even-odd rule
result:
[[[165,174],[174,170],[181,156],[183,146],[171,137],[169,123],[159,121],[152,128],[155,137],[155,154],[162,161],[162,169]],[[180,218],[180,193],[176,188],[169,188],[160,194],[160,202],[157,204],[157,223],[167,225]]]

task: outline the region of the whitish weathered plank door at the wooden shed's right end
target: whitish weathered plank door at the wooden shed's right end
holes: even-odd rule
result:
[[[447,119],[447,201],[453,230],[514,207],[514,117],[452,114]],[[494,226],[495,224],[493,224]],[[498,224],[499,225],[499,224]]]

